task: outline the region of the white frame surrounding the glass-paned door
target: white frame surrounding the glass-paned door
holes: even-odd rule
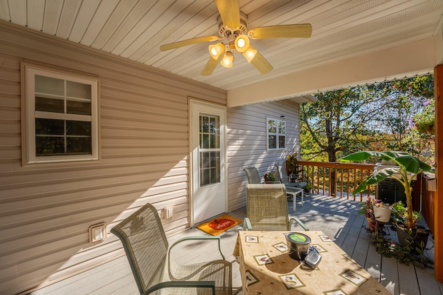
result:
[[[199,104],[201,106],[207,106],[210,108],[218,108],[219,110],[222,111],[223,116],[224,116],[224,122],[225,124],[223,124],[223,126],[220,126],[220,129],[223,129],[223,133],[224,133],[224,138],[223,140],[223,144],[224,144],[224,159],[222,159],[222,161],[224,162],[224,169],[223,170],[223,179],[224,179],[224,183],[221,185],[224,185],[224,200],[225,200],[225,204],[224,204],[224,212],[227,211],[228,209],[228,155],[227,155],[227,115],[226,115],[226,106],[222,105],[222,104],[215,104],[215,103],[211,103],[211,102],[205,102],[201,99],[196,99],[194,97],[188,97],[188,146],[189,146],[189,151],[188,151],[188,157],[189,157],[189,188],[188,188],[188,196],[189,196],[189,210],[190,210],[190,215],[189,215],[189,226],[190,227],[194,227],[195,226],[195,222],[194,222],[194,178],[195,177],[199,177],[199,175],[194,175],[193,171],[194,171],[194,159],[192,158],[192,106],[195,104]],[[222,163],[223,164],[223,163]]]

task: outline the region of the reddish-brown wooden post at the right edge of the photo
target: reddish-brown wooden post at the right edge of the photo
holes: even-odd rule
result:
[[[435,278],[443,283],[443,64],[434,68],[435,80]]]

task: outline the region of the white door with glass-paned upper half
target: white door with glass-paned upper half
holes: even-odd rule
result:
[[[190,101],[191,226],[226,212],[226,108]]]

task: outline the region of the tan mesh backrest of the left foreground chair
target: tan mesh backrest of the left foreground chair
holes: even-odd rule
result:
[[[168,267],[169,245],[155,207],[145,204],[112,228],[111,233],[123,243],[141,294],[161,283],[163,269]]]

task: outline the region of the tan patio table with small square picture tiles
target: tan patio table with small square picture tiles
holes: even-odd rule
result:
[[[391,294],[322,231],[302,231],[322,259],[316,269],[289,257],[287,231],[239,231],[244,294]]]

